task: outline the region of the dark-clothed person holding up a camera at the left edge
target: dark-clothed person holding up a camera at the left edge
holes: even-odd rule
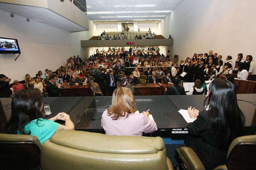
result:
[[[9,88],[11,79],[4,74],[0,74],[0,97],[10,97],[12,90]]]

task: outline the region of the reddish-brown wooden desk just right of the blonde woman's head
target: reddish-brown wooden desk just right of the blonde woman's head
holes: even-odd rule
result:
[[[161,83],[164,87],[173,86],[173,84]],[[182,86],[181,84],[179,84]],[[164,95],[164,88],[159,87],[156,83],[135,84],[136,96],[157,96]]]

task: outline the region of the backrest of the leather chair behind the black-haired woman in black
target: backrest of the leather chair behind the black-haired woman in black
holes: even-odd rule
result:
[[[256,135],[241,136],[232,141],[228,149],[229,169],[256,169]]]

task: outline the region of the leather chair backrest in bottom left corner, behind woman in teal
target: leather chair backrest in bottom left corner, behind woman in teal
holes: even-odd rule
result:
[[[40,149],[35,136],[0,134],[0,169],[40,168]]]

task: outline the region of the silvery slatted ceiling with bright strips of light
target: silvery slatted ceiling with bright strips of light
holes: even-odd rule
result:
[[[184,0],[86,0],[92,21],[132,21],[164,19]]]

